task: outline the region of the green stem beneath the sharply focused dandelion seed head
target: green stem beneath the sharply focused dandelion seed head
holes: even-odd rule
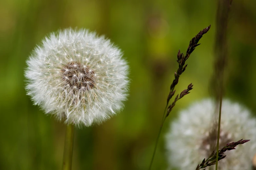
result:
[[[74,125],[68,124],[66,129],[66,135],[65,135],[62,170],[72,169],[73,142],[74,142]]]

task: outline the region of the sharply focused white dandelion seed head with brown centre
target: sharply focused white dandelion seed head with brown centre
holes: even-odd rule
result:
[[[46,114],[90,126],[123,108],[128,64],[110,40],[87,30],[46,37],[27,60],[26,90]]]

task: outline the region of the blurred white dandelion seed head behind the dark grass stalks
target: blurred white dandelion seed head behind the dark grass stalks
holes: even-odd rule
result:
[[[212,100],[202,100],[181,111],[178,120],[171,123],[170,131],[166,135],[170,166],[195,170],[197,164],[208,158],[216,149],[217,130],[213,121],[214,111],[216,106]],[[219,161],[218,169],[250,170],[256,153],[256,120],[251,118],[246,108],[224,100],[220,127],[220,148],[240,139],[251,140],[237,146],[235,150],[225,152],[227,157]]]

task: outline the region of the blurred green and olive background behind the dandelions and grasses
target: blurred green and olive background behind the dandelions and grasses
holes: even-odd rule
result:
[[[233,0],[228,23],[225,97],[256,112],[256,1]],[[177,52],[212,24],[188,59],[178,101],[161,135],[152,169],[166,169],[164,135],[178,111],[211,97],[217,1],[201,0],[4,0],[0,2],[0,169],[61,169],[65,126],[45,116],[26,96],[26,59],[45,35],[88,28],[118,45],[130,65],[125,109],[101,125],[75,130],[73,169],[147,169]]]

